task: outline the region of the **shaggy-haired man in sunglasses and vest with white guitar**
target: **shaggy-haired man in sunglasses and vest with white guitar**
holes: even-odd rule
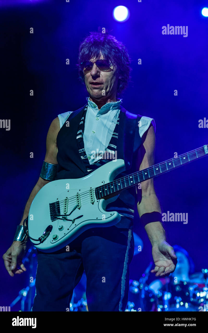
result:
[[[107,159],[97,161],[91,156],[92,151],[107,150],[115,154],[123,146],[120,134],[124,133],[124,140],[126,133],[122,128],[125,118],[118,95],[127,86],[129,64],[126,48],[111,35],[94,32],[80,45],[79,77],[89,94],[87,104],[78,110],[75,117],[74,112],[59,114],[49,127],[40,177],[26,203],[14,241],[3,255],[10,276],[26,271],[22,258],[28,237],[22,225],[38,191],[50,181],[80,178],[103,162],[109,162]],[[141,145],[133,154],[132,166],[143,170],[154,165],[153,119],[140,117],[134,142],[138,139],[141,139]],[[129,264],[134,254],[133,199],[137,200],[140,220],[152,244],[155,268],[151,272],[157,277],[165,277],[174,271],[177,257],[173,247],[166,242],[153,179],[143,181],[141,189],[139,186],[131,189],[126,190],[123,197],[119,195],[110,207],[121,214],[121,221],[116,225],[82,232],[68,244],[69,251],[66,247],[51,253],[38,250],[36,294],[31,311],[68,311],[73,289],[83,270],[87,278],[89,311],[125,311]],[[131,197],[133,199],[129,199]]]

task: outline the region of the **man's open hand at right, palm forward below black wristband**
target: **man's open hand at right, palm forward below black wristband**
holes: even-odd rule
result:
[[[177,256],[173,247],[166,241],[153,245],[152,256],[155,262],[155,269],[152,269],[151,273],[156,273],[155,276],[168,276],[175,270]]]

